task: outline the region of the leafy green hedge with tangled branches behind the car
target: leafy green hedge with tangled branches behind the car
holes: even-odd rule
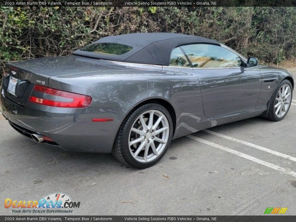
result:
[[[216,39],[245,56],[296,56],[295,7],[0,8],[0,61],[68,55],[101,37],[175,32]]]

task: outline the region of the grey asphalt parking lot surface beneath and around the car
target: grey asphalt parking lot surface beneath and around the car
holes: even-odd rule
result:
[[[173,140],[164,158],[144,170],[111,154],[49,149],[1,116],[0,200],[62,192],[81,202],[74,215],[263,215],[267,207],[296,215],[293,100],[283,121],[255,117]],[[0,215],[13,215],[2,204]]]

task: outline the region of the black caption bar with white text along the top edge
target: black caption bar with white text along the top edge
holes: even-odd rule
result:
[[[6,7],[296,6],[296,0],[0,0]]]

